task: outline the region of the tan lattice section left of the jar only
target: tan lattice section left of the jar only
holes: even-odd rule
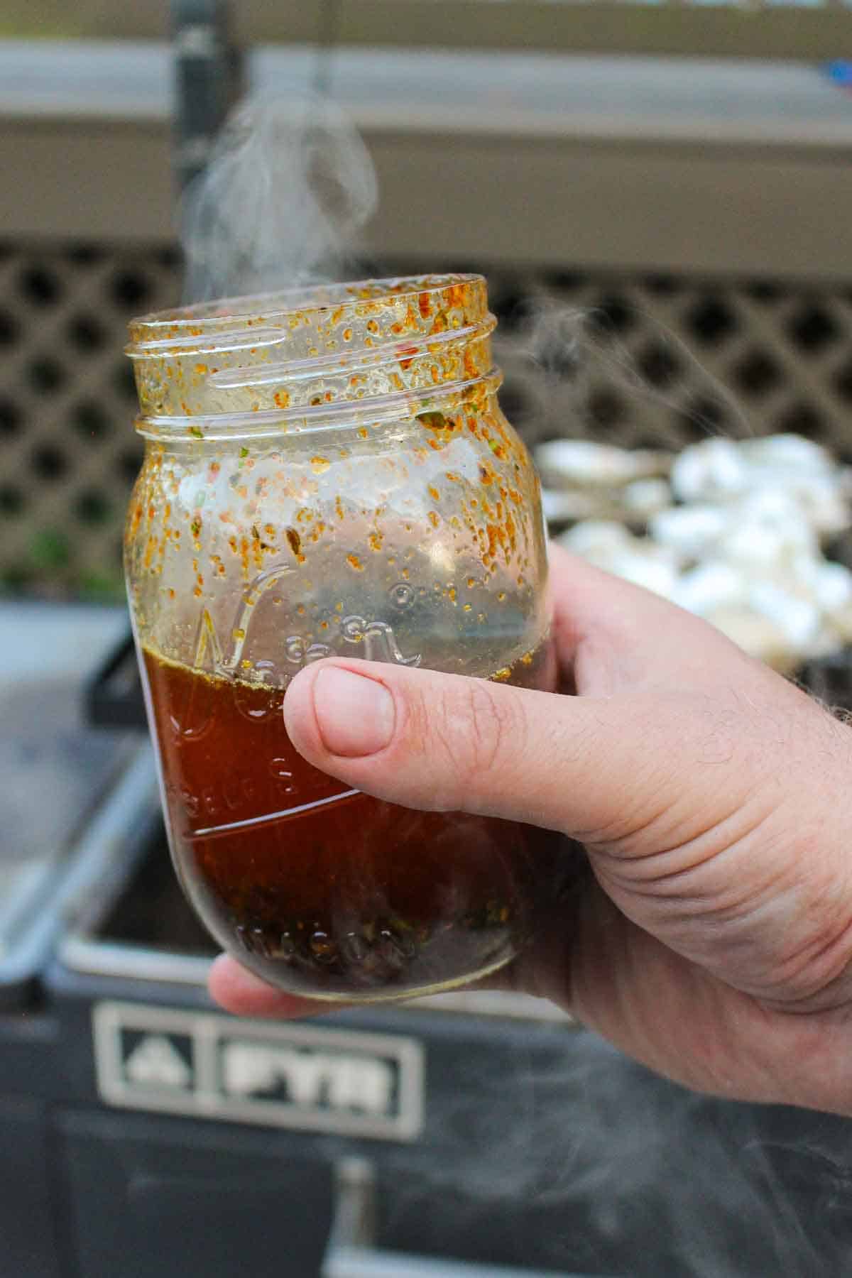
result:
[[[0,580],[37,593],[120,590],[124,506],[142,450],[123,354],[130,316],[171,305],[157,248],[0,256]]]

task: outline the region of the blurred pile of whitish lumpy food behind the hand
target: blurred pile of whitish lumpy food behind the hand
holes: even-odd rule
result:
[[[704,440],[680,455],[586,440],[540,445],[557,539],[673,599],[789,671],[852,642],[852,473],[811,440]]]

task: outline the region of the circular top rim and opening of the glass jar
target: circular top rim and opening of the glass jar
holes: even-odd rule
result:
[[[273,293],[247,294],[234,298],[216,298],[186,307],[153,311],[130,321],[128,354],[142,354],[158,346],[161,341],[181,339],[197,340],[234,334],[239,328],[263,326],[276,328],[290,325],[295,316],[328,309],[342,313],[358,308],[377,309],[396,305],[422,294],[433,296],[457,285],[485,288],[485,277],[478,273],[451,272],[445,275],[388,276],[384,279],[350,280],[339,284],[296,285]]]

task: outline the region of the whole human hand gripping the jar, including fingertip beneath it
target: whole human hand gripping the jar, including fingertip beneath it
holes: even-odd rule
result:
[[[332,658],[285,722],[410,808],[559,829],[591,873],[492,985],[688,1086],[852,1113],[852,730],[673,604],[551,551],[576,695]],[[226,1008],[327,1011],[221,957]]]

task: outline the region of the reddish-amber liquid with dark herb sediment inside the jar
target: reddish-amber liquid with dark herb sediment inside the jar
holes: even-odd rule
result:
[[[461,984],[529,938],[559,836],[383,803],[307,763],[285,693],[144,651],[184,886],[216,939],[273,985],[358,1001]],[[552,689],[549,644],[496,672]]]

